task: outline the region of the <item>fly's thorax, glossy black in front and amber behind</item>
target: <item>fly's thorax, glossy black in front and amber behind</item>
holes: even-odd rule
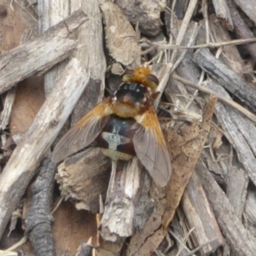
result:
[[[113,113],[124,118],[135,117],[147,109],[151,95],[151,89],[143,84],[121,84],[113,94]]]

